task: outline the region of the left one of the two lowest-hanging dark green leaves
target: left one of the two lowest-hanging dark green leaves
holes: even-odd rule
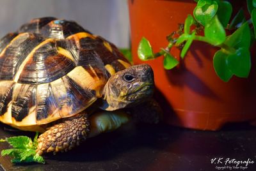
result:
[[[228,82],[233,76],[233,73],[229,70],[227,66],[227,54],[218,50],[213,57],[213,66],[218,77],[224,82]]]

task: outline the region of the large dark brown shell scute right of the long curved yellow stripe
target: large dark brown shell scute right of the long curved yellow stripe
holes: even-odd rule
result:
[[[59,52],[56,40],[45,40],[45,42],[41,43],[43,45],[38,45],[35,52],[29,54],[24,68],[20,68],[22,71],[18,82],[24,84],[52,82],[76,67],[72,59]]]

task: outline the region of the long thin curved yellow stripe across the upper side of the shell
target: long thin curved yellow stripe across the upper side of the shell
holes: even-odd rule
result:
[[[49,38],[45,41],[43,41],[42,43],[40,43],[39,45],[37,45],[26,57],[26,59],[22,62],[22,64],[20,64],[19,70],[16,72],[15,77],[14,77],[14,82],[18,82],[20,74],[22,72],[22,70],[24,69],[25,65],[28,63],[29,59],[31,59],[31,57],[33,57],[33,54],[35,54],[36,50],[38,50],[38,48],[42,47],[43,45],[54,41],[54,39]]]

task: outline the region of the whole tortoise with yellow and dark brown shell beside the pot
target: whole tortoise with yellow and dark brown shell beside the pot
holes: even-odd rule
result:
[[[153,91],[150,66],[132,66],[74,21],[33,19],[0,40],[0,121],[40,131],[38,154],[67,151],[132,117],[157,122]]]

